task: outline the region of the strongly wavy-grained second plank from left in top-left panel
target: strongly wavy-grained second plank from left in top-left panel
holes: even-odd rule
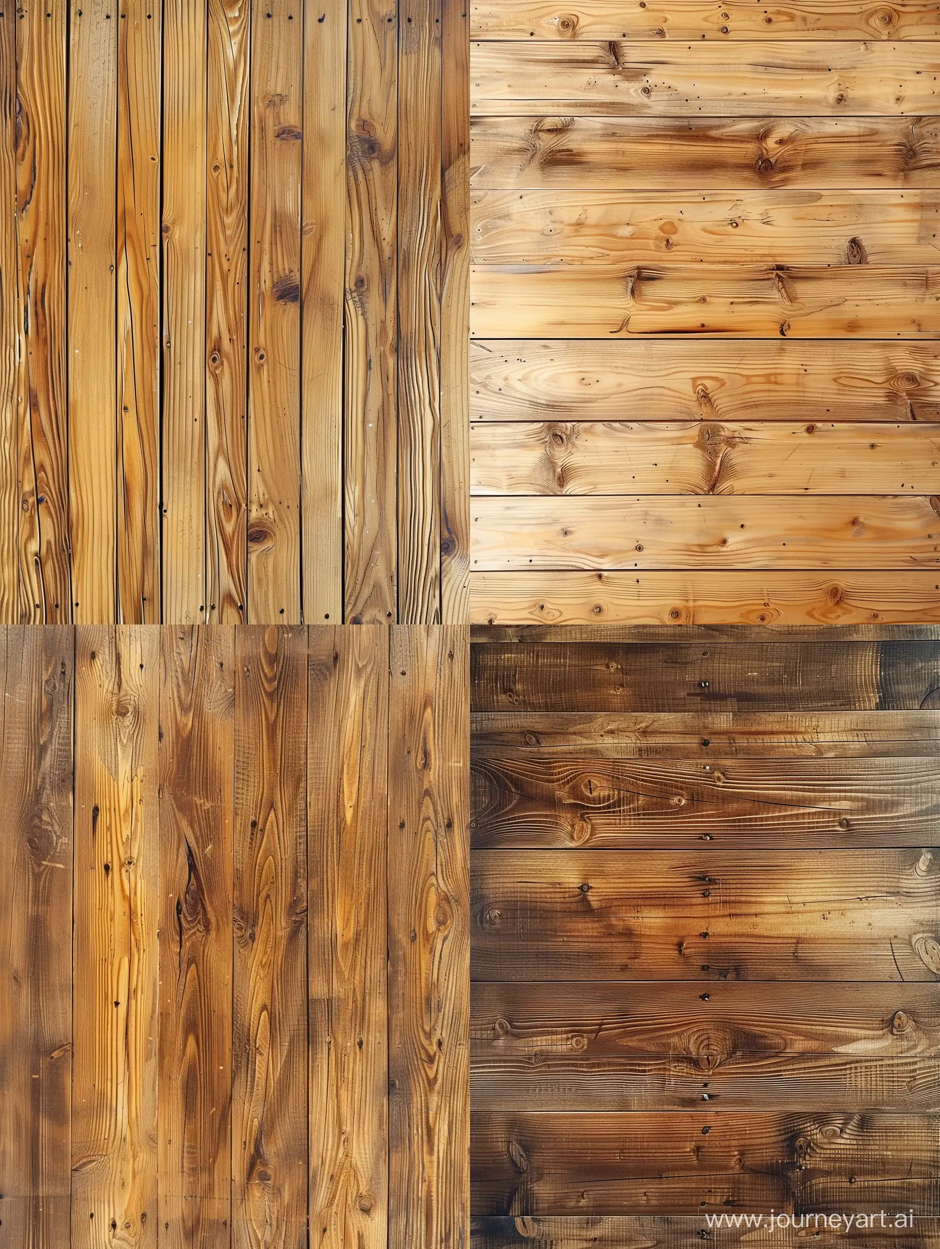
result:
[[[71,620],[66,422],[67,0],[16,14],[20,621]]]

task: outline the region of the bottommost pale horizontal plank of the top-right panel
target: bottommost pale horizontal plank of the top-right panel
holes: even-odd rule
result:
[[[487,572],[471,578],[471,620],[552,621],[565,628],[662,623],[683,631],[885,621],[899,628],[905,621],[940,621],[938,591],[933,572]]]

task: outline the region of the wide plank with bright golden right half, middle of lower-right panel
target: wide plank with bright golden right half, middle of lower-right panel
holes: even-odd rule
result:
[[[928,980],[929,849],[476,851],[473,977]]]

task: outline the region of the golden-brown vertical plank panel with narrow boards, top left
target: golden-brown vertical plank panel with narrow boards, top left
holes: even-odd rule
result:
[[[467,620],[468,26],[0,11],[0,623]]]

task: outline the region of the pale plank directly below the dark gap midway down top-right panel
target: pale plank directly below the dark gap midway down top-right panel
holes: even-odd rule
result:
[[[916,342],[471,346],[473,421],[936,421],[940,361]]]

